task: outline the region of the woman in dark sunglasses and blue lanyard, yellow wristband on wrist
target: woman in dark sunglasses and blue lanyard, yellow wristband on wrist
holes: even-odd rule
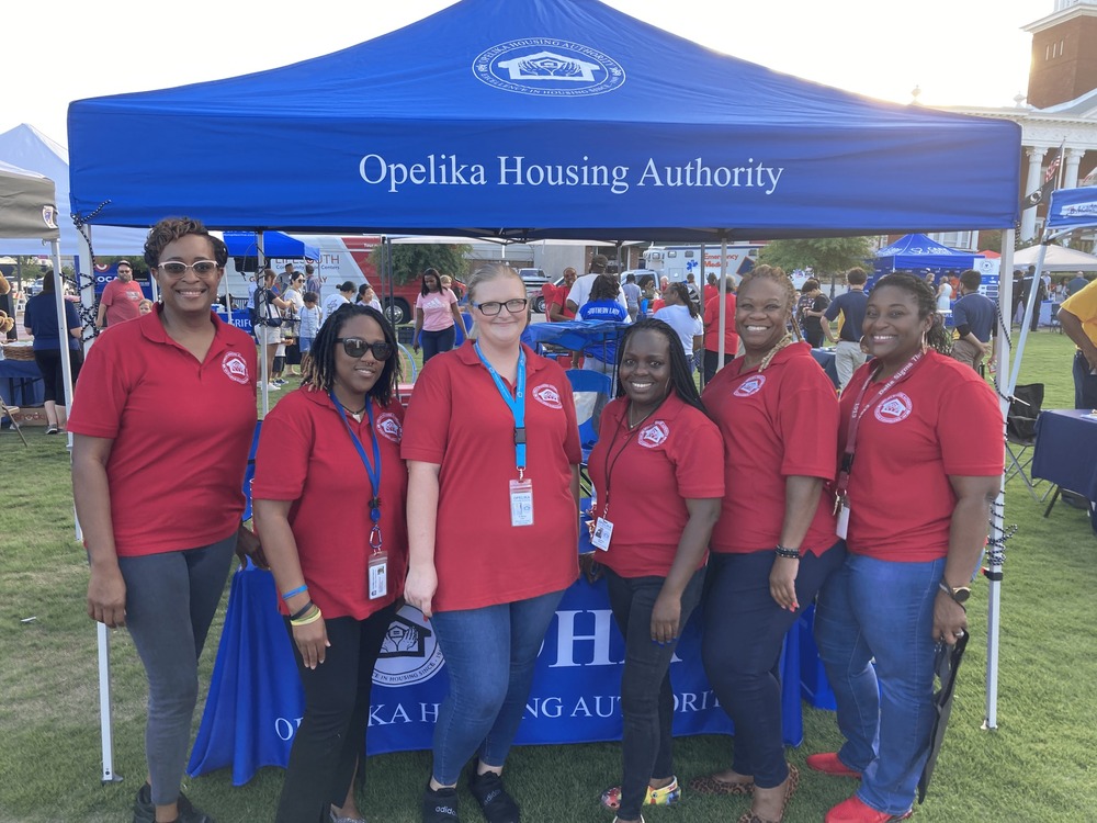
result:
[[[305,690],[276,820],[360,821],[373,667],[407,570],[396,336],[370,306],[320,327],[302,387],[263,420],[256,528]]]

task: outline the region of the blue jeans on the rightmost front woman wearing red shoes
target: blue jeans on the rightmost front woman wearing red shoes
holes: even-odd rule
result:
[[[943,557],[896,563],[850,554],[815,610],[815,642],[846,737],[838,758],[862,773],[857,796],[889,814],[914,804],[929,754],[934,600],[943,573]]]

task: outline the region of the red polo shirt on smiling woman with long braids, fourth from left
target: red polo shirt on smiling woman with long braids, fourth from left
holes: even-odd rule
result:
[[[596,557],[622,577],[666,577],[689,521],[686,500],[724,496],[724,444],[715,424],[677,394],[632,431],[627,409],[624,398],[606,406],[587,461],[596,515],[613,523],[609,550]]]

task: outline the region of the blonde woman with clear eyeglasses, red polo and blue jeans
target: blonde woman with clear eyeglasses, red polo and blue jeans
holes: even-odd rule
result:
[[[521,342],[528,301],[513,269],[478,269],[468,304],[475,342],[423,368],[402,450],[404,594],[430,620],[450,676],[423,823],[457,820],[455,787],[473,755],[468,788],[489,823],[519,820],[502,767],[541,642],[578,576],[581,454],[567,377]]]

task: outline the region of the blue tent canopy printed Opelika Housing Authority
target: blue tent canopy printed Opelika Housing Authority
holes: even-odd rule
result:
[[[170,208],[225,229],[621,240],[1018,217],[1015,123],[780,75],[595,0],[464,0],[284,68],[77,101],[69,148],[73,204],[103,225]]]

